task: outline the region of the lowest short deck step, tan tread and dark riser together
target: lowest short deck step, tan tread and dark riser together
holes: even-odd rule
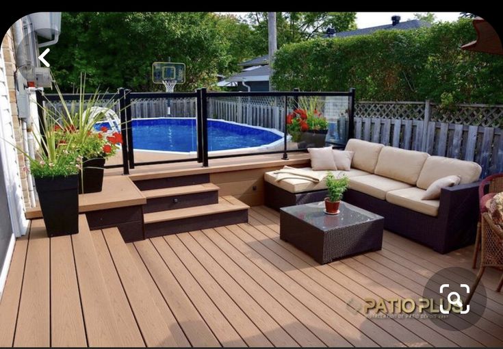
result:
[[[216,204],[144,214],[145,237],[248,222],[248,208],[232,196],[223,196]]]

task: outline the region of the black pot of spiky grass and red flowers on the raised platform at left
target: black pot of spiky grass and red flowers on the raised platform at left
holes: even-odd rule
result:
[[[85,75],[81,76],[78,99],[75,101],[64,101],[57,85],[55,88],[60,95],[58,104],[61,107],[49,105],[44,110],[58,120],[55,125],[57,138],[72,144],[72,150],[81,159],[79,194],[101,192],[105,160],[114,156],[122,143],[122,135],[104,120],[106,116],[111,118],[115,114],[113,107],[118,99],[115,96],[101,99],[102,94],[98,90],[86,95]]]

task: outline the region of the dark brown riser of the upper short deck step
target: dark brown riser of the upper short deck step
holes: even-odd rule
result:
[[[218,203],[218,191],[149,198],[143,208],[144,213],[184,209]]]

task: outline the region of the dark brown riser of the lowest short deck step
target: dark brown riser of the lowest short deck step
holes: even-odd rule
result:
[[[145,237],[157,237],[248,222],[248,209],[145,224]]]

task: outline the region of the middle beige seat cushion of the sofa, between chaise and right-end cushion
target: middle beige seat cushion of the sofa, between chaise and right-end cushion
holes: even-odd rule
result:
[[[407,183],[381,177],[377,174],[350,178],[349,186],[352,190],[357,190],[381,200],[385,200],[386,193],[391,190],[411,188],[411,185]]]

